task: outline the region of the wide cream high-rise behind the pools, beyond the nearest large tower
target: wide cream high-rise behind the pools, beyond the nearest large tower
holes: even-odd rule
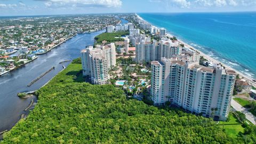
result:
[[[172,42],[170,39],[162,39],[159,42],[137,43],[135,61],[137,63],[150,62],[154,60],[161,60],[161,58],[173,58],[181,54],[182,47],[179,42]]]

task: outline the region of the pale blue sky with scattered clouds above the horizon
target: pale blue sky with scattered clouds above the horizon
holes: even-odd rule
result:
[[[256,0],[0,0],[0,16],[256,11]]]

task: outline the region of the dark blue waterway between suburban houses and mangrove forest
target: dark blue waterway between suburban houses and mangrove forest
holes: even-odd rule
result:
[[[59,63],[64,60],[73,60],[79,57],[80,51],[87,45],[93,45],[94,37],[103,33],[105,30],[95,31],[91,34],[78,34],[61,44],[52,51],[38,55],[38,58],[27,65],[13,70],[0,77],[0,132],[10,130],[17,123],[33,97],[20,99],[17,97],[19,92],[38,90],[47,81],[63,69],[70,62]],[[28,87],[27,85],[50,68],[54,70],[39,79],[36,83]]]

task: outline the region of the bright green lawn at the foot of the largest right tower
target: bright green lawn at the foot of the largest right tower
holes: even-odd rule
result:
[[[239,132],[244,132],[244,127],[242,127],[242,124],[233,116],[233,114],[230,114],[229,118],[230,120],[228,122],[220,122],[218,125],[225,129],[226,133],[231,138],[236,138]]]

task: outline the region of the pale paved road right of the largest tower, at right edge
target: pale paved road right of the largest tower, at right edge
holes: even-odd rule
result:
[[[245,117],[248,119],[248,121],[250,121],[251,123],[256,125],[256,117],[252,113],[250,113],[246,108],[244,108],[238,102],[236,102],[234,99],[231,100],[231,106],[236,111],[241,111],[242,113],[244,113]]]

